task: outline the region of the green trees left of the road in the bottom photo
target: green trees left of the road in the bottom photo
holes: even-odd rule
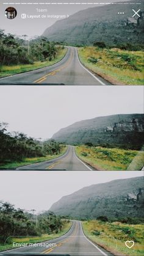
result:
[[[62,230],[64,222],[51,211],[30,214],[20,208],[15,208],[8,202],[0,202],[0,241],[9,236],[37,236],[44,233],[57,233]],[[36,221],[36,222],[35,222]],[[10,243],[10,240],[7,240]]]

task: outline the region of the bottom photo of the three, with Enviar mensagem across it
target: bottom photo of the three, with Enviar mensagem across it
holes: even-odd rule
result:
[[[0,255],[143,255],[142,175],[1,172]]]

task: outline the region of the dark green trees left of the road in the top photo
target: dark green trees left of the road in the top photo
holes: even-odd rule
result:
[[[15,37],[0,30],[0,62],[2,65],[34,64],[52,60],[59,48],[46,37],[27,39],[27,35]]]

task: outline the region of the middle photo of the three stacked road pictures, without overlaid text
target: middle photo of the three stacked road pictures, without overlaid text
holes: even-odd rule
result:
[[[143,87],[41,87],[0,87],[1,170],[143,169]]]

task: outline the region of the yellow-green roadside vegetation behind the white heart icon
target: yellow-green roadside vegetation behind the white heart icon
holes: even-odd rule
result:
[[[84,233],[90,240],[114,255],[143,255],[143,224],[123,224],[120,221],[84,221]],[[134,241],[131,250],[125,246],[127,240]]]

